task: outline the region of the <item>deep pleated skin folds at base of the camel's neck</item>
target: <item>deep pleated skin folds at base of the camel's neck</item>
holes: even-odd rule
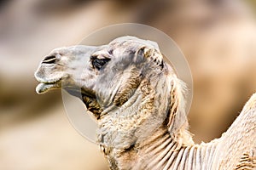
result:
[[[217,143],[179,144],[167,131],[153,136],[138,151],[132,169],[210,169]]]

